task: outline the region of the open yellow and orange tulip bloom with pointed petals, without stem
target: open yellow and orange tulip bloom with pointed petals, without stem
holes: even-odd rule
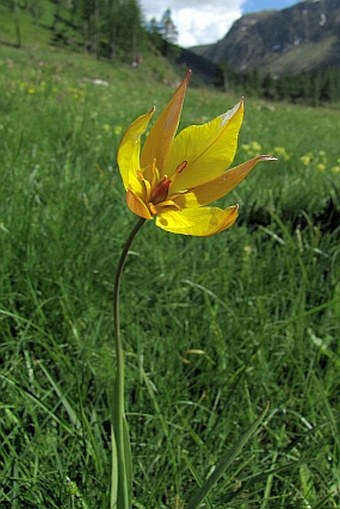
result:
[[[177,136],[186,77],[175,91],[141,148],[155,108],[126,130],[117,162],[126,189],[127,205],[144,219],[156,218],[163,230],[183,235],[209,236],[229,228],[238,205],[222,210],[205,205],[237,186],[268,155],[257,156],[225,171],[232,163],[244,115],[244,102],[202,125],[192,125]]]

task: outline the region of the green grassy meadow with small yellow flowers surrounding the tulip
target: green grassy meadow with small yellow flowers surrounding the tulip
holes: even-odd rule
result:
[[[183,71],[184,74],[184,71]],[[98,81],[101,80],[101,81]],[[107,509],[112,290],[136,218],[115,156],[174,89],[155,61],[0,47],[0,507]],[[238,100],[190,88],[182,126]],[[263,163],[211,238],[147,223],[122,294],[134,509],[182,509],[270,401],[207,509],[339,507],[339,106],[246,102]]]

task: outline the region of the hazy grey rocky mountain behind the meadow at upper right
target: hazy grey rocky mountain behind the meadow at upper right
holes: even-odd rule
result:
[[[283,75],[340,68],[340,0],[247,14],[216,44],[191,50],[236,72]]]

